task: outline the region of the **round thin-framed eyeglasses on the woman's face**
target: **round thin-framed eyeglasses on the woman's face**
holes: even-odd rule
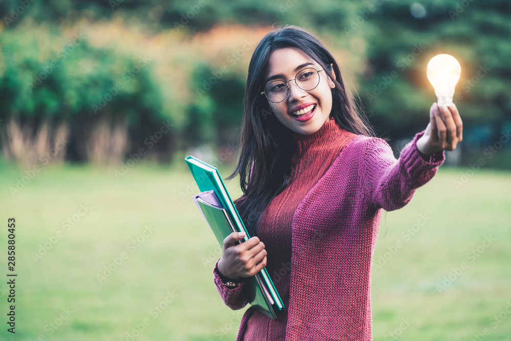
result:
[[[268,101],[273,103],[279,103],[284,101],[289,94],[289,84],[288,82],[294,80],[296,86],[305,91],[310,91],[314,89],[319,84],[319,72],[323,71],[316,70],[314,67],[307,67],[307,69],[301,70],[296,74],[293,79],[290,79],[286,82],[282,80],[276,80],[273,82],[269,82],[264,87],[264,91],[261,95],[265,95]]]

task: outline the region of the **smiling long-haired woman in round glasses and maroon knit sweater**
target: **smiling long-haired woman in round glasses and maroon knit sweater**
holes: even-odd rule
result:
[[[371,340],[370,269],[382,210],[405,206],[461,141],[456,107],[394,158],[359,116],[334,57],[310,33],[268,33],[250,60],[235,201],[252,238],[224,240],[214,281],[247,304],[245,279],[266,266],[284,302],[271,320],[246,310],[238,340]],[[248,181],[246,180],[248,178]]]

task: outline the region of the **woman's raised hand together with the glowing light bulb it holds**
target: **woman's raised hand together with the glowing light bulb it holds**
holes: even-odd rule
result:
[[[433,103],[429,109],[430,122],[416,143],[423,155],[454,150],[463,139],[463,122],[452,102],[460,74],[458,61],[450,55],[437,55],[428,63],[427,75],[435,89],[438,103]]]

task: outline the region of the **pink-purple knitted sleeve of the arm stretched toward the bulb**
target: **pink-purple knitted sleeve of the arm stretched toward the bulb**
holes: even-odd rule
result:
[[[415,190],[426,184],[444,163],[445,151],[424,156],[417,149],[416,142],[424,132],[416,133],[406,144],[399,160],[384,140],[365,140],[361,174],[363,192],[376,209],[393,211],[404,207]]]

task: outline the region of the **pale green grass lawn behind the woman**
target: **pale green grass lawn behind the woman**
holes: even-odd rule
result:
[[[223,177],[229,170],[220,168]],[[456,189],[466,170],[440,167],[406,207],[383,215],[375,340],[511,339],[511,172],[481,169]],[[191,199],[198,190],[184,161],[137,164],[119,179],[114,169],[42,166],[11,195],[24,175],[0,165],[0,264],[6,279],[15,217],[18,274],[15,337],[0,284],[1,339],[235,339],[248,307],[230,310],[215,288],[221,250]],[[241,194],[237,180],[226,185]]]

